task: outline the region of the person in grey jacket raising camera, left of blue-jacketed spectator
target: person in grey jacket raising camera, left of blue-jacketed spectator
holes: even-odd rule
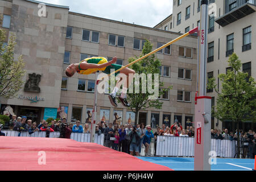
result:
[[[139,144],[141,143],[141,133],[137,131],[137,127],[133,126],[132,131],[128,133],[131,143],[130,143],[130,155],[133,155],[135,151],[135,155],[139,156]]]

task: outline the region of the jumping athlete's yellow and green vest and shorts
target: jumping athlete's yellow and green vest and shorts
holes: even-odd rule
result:
[[[82,60],[80,63],[83,61],[86,61],[87,63],[92,63],[92,64],[104,64],[108,63],[108,60],[106,60],[105,57],[88,57],[84,60]],[[119,64],[111,64],[108,67],[105,68],[89,68],[89,69],[81,69],[80,68],[80,63],[79,63],[79,71],[77,73],[80,73],[82,75],[89,75],[91,73],[97,72],[97,71],[102,71],[103,73],[110,74],[111,69],[114,69],[114,71],[122,68],[122,65]],[[117,76],[120,72],[116,72],[115,76]]]

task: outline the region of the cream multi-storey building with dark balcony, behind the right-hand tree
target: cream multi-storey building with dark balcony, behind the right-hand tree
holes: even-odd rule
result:
[[[174,0],[172,11],[172,31],[185,33],[195,28],[200,22],[200,0]],[[218,74],[226,73],[229,69],[228,56],[235,52],[242,61],[242,71],[256,78],[256,53],[253,44],[256,42],[256,1],[254,0],[210,0],[208,20],[208,77],[215,77],[218,89],[221,83]],[[170,24],[171,22],[168,22]],[[217,94],[207,90],[216,103]],[[236,129],[230,121],[218,121],[212,118],[212,128],[230,130]],[[243,129],[254,129],[255,123],[242,123]]]

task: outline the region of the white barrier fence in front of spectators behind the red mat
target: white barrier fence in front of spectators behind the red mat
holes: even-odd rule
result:
[[[35,131],[31,135],[28,132],[19,132],[14,130],[2,130],[6,136],[9,137],[46,137],[46,132],[44,131]],[[49,134],[49,138],[59,138],[59,132],[51,132]],[[71,133],[71,139],[76,140],[77,142],[90,142],[90,134],[89,133]],[[94,143],[104,144],[104,134],[101,135],[94,135]]]

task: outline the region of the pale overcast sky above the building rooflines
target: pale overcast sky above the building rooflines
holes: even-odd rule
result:
[[[40,0],[38,0],[40,1]],[[172,14],[172,0],[42,0],[69,11],[154,27]]]

